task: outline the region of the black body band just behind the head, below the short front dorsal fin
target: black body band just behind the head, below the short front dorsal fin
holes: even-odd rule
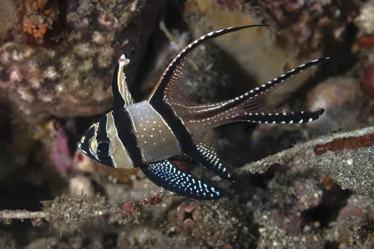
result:
[[[114,110],[112,116],[118,138],[129,153],[134,166],[138,167],[143,165],[142,152],[138,146],[136,135],[133,132],[133,125],[129,112],[126,108]]]

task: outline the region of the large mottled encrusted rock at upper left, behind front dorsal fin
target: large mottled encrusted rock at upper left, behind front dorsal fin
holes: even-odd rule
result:
[[[109,110],[117,59],[122,53],[131,59],[125,69],[131,83],[162,1],[77,4],[66,13],[66,35],[58,42],[44,47],[7,42],[0,47],[0,97],[28,122]]]

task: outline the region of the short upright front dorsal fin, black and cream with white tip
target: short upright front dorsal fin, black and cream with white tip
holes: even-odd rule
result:
[[[118,64],[114,69],[113,80],[112,80],[112,91],[113,91],[113,107],[114,109],[121,109],[125,106],[134,104],[133,96],[129,91],[126,84],[126,76],[123,68],[129,64],[130,60],[121,55],[118,59]]]

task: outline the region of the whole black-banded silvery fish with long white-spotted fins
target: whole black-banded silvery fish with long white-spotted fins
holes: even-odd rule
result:
[[[269,93],[310,66],[329,60],[318,58],[233,99],[198,104],[184,84],[182,72],[187,56],[201,43],[246,28],[229,27],[209,32],[189,43],[169,64],[148,98],[136,103],[126,84],[123,54],[112,80],[113,110],[92,124],[78,148],[91,159],[113,168],[139,167],[156,185],[197,200],[214,200],[224,191],[178,168],[175,161],[200,164],[228,182],[237,181],[217,154],[215,129],[233,122],[301,124],[317,120],[324,109],[290,111],[266,105]],[[181,156],[182,155],[182,156]]]

